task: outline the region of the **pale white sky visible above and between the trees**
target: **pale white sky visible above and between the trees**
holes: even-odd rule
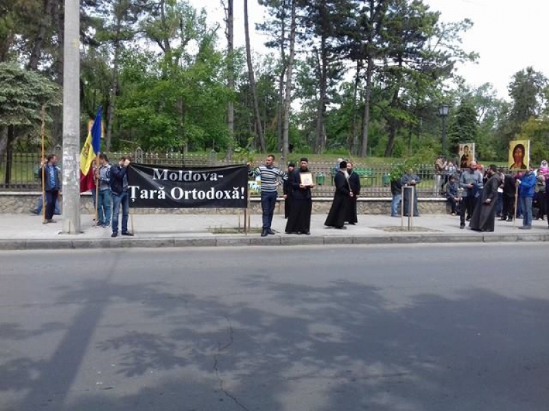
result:
[[[219,0],[189,0],[196,8],[207,10],[210,23],[224,25]],[[467,84],[491,83],[498,97],[508,99],[507,86],[517,71],[533,66],[549,76],[549,52],[542,47],[549,16],[547,0],[423,0],[431,10],[441,12],[447,22],[469,18],[474,26],[463,35],[463,49],[476,51],[474,64],[460,64],[458,75]],[[235,0],[235,45],[244,46],[243,1]],[[257,0],[248,0],[250,40],[256,53],[268,53],[265,36],[255,32],[255,23],[263,21],[265,12]],[[220,30],[223,35],[223,31]],[[223,42],[224,38],[220,39]]]

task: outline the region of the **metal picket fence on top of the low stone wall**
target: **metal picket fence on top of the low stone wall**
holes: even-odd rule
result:
[[[61,155],[60,147],[56,147],[54,153]],[[109,153],[111,162],[126,153]],[[165,166],[226,166],[231,164],[244,164],[242,159],[220,160],[218,153],[212,151],[209,154],[187,153],[183,155],[176,151],[168,152],[144,152],[137,149],[132,154],[132,160],[143,164],[155,164]],[[62,164],[59,164],[62,167]],[[38,153],[12,153],[8,160],[4,155],[0,164],[0,191],[25,191],[40,190],[38,179],[40,155]],[[355,170],[361,175],[361,197],[390,197],[390,171],[391,164],[367,164],[355,162]],[[334,173],[336,162],[309,162],[309,169],[316,180],[313,189],[315,197],[329,197],[334,194]],[[415,167],[417,175],[421,178],[418,192],[421,197],[434,197],[434,166],[418,165]]]

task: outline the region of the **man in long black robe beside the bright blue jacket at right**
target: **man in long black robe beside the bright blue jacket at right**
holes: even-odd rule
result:
[[[489,179],[482,188],[482,195],[469,223],[474,231],[493,232],[495,226],[495,201],[498,199],[498,188],[502,179],[494,164],[489,166],[488,175]]]

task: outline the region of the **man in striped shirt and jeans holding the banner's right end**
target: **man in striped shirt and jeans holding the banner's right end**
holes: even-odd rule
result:
[[[250,177],[261,176],[261,214],[263,215],[261,237],[274,234],[270,225],[272,223],[272,214],[274,214],[274,205],[277,203],[277,188],[281,179],[288,179],[288,175],[275,167],[273,162],[274,155],[269,154],[265,164],[257,167],[257,169],[252,169],[251,163],[248,163],[248,175]]]

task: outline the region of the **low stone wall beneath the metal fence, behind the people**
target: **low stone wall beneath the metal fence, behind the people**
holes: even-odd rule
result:
[[[1,214],[29,214],[36,208],[36,201],[40,192],[0,192],[0,213]],[[91,195],[87,193],[80,197],[82,212],[93,214],[93,203]],[[313,201],[313,212],[316,214],[327,214],[331,206],[331,198],[316,198]],[[261,214],[259,199],[252,199],[250,202],[252,214]],[[136,208],[132,209],[135,214],[238,214],[239,209],[227,208]],[[274,209],[277,214],[284,212],[284,201],[280,199]],[[445,214],[447,213],[446,201],[444,199],[419,199],[420,214]],[[358,201],[359,214],[390,214],[390,198],[364,198]]]

